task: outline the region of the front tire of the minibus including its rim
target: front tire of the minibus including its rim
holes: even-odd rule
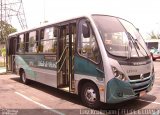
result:
[[[87,107],[98,109],[100,107],[100,95],[97,86],[87,82],[82,86],[81,100]]]

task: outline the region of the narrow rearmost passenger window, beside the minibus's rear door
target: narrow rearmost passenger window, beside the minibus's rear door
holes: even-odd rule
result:
[[[18,37],[18,43],[17,43],[17,51],[19,53],[23,53],[24,52],[24,34],[19,35]]]

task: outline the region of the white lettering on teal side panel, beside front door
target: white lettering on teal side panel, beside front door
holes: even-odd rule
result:
[[[41,60],[38,61],[39,67],[57,68],[56,62]]]

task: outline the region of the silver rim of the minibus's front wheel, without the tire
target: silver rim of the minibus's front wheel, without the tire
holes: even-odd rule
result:
[[[93,88],[87,88],[85,91],[85,97],[87,99],[87,101],[94,103],[97,98],[96,98],[96,93],[95,90]]]

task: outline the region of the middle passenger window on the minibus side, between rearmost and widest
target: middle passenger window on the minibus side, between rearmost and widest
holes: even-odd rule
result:
[[[36,39],[36,31],[29,33],[29,52],[37,53],[37,39]]]

